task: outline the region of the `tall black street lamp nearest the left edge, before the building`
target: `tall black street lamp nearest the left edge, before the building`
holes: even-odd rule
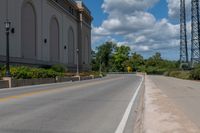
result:
[[[7,19],[4,24],[6,29],[6,77],[11,77],[10,64],[9,64],[10,63],[9,34],[10,34],[11,22]]]

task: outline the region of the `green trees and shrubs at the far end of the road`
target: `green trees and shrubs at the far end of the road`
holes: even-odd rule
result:
[[[149,59],[144,59],[138,53],[130,54],[130,47],[117,46],[113,42],[106,42],[93,51],[92,70],[104,72],[125,72],[127,67],[132,71],[147,72],[148,74],[163,74],[177,68],[177,62],[163,60],[160,53],[155,53]]]

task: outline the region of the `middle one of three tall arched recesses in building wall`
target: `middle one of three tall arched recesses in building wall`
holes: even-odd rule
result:
[[[50,61],[59,62],[59,24],[56,17],[50,20]]]

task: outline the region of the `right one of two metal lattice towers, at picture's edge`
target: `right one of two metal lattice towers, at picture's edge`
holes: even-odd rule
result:
[[[192,0],[191,67],[200,63],[199,0]]]

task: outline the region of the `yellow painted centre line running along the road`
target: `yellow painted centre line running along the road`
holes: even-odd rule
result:
[[[108,80],[103,80],[103,81],[96,81],[96,82],[92,82],[92,83],[86,83],[83,85],[74,85],[74,86],[72,85],[68,88],[89,87],[89,86],[93,86],[93,85],[97,85],[97,84],[101,84],[101,83],[105,83],[105,82],[110,82],[110,81],[114,81],[114,80],[119,80],[119,79],[122,79],[122,78],[120,77],[120,78],[108,79]],[[3,98],[0,98],[0,102],[6,102],[9,100],[13,100],[13,99],[21,99],[24,97],[33,96],[33,95],[37,95],[37,94],[43,94],[43,93],[47,93],[47,92],[60,92],[66,88],[67,87],[54,88],[54,89],[50,89],[50,90],[39,90],[39,91],[33,91],[33,92],[27,92],[27,93],[22,93],[22,94],[18,94],[18,95],[3,97]]]

